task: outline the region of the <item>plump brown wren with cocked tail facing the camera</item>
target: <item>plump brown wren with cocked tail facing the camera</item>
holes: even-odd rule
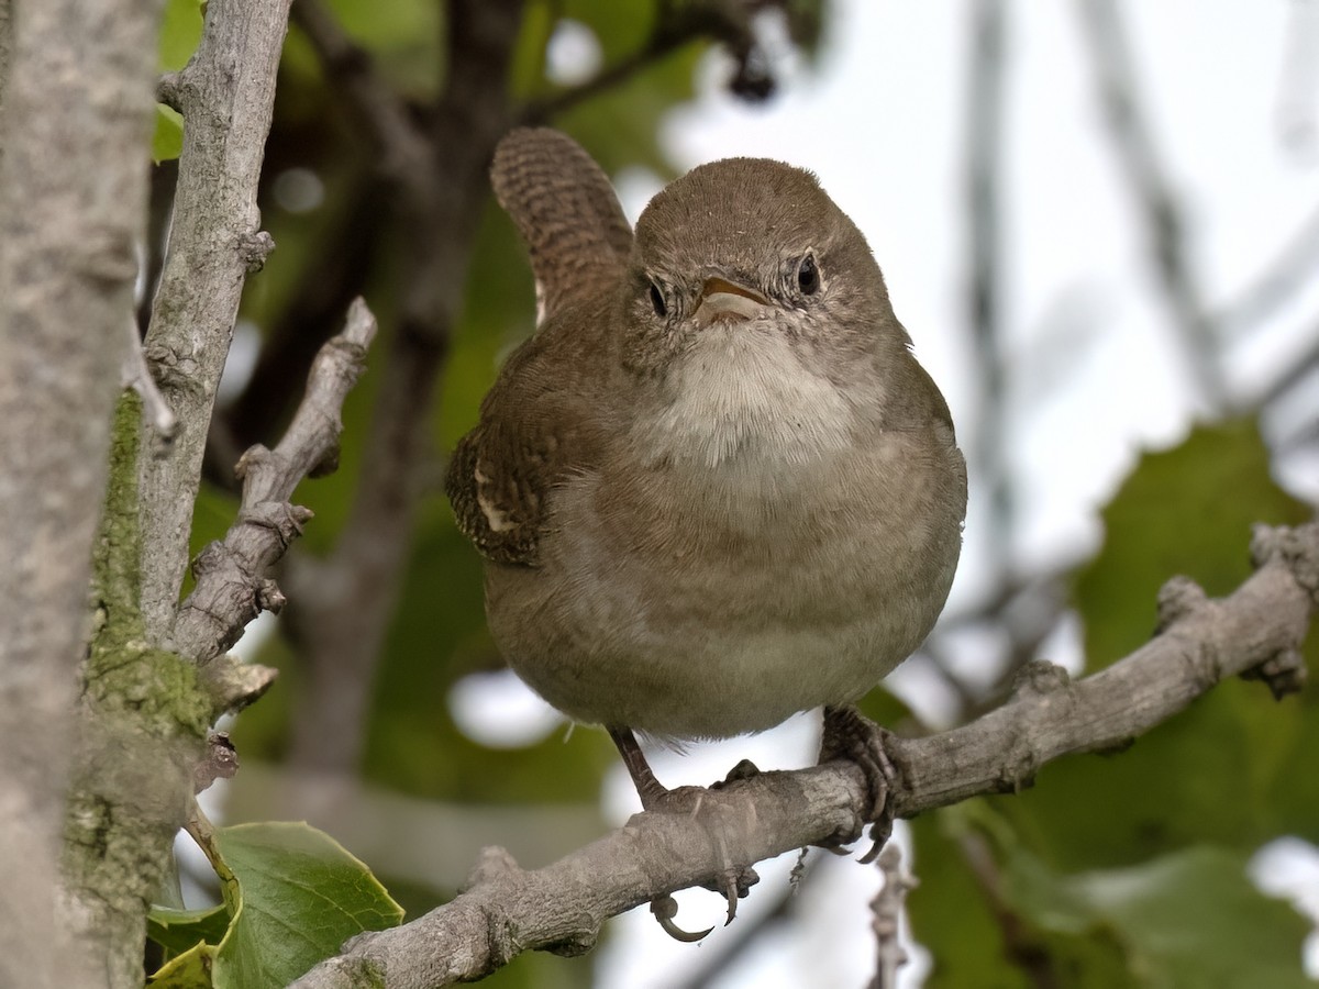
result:
[[[491,182],[537,327],[445,484],[499,651],[609,732],[646,810],[670,791],[637,733],[823,707],[822,760],[865,761],[855,703],[943,609],[967,471],[861,231],[810,171],[748,157],[675,179],[633,231],[550,128],[505,135]]]

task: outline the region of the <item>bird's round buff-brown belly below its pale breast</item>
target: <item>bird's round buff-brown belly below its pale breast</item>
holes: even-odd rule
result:
[[[919,491],[732,518],[700,497],[666,512],[661,485],[646,538],[598,494],[583,481],[562,500],[541,568],[491,568],[491,628],[559,709],[656,736],[756,732],[860,698],[929,633],[960,545],[960,517],[929,518]]]

